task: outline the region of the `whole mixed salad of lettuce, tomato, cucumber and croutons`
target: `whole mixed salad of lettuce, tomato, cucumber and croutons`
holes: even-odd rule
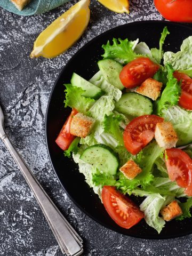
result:
[[[73,73],[65,84],[71,114],[55,142],[123,228],[145,218],[160,233],[191,217],[192,36],[164,53],[169,34],[159,49],[114,38],[89,81]]]

